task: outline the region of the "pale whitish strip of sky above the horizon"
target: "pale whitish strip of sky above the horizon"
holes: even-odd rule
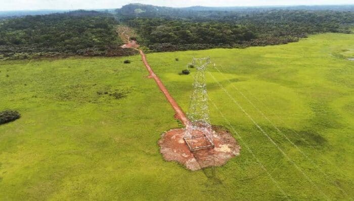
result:
[[[120,8],[130,3],[155,6],[288,6],[288,5],[341,5],[354,0],[0,0],[0,11],[14,10],[76,10]]]

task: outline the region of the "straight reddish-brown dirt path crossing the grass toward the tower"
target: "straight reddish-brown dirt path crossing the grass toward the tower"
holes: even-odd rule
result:
[[[172,98],[172,96],[168,93],[166,87],[163,85],[161,82],[160,78],[154,73],[154,71],[151,69],[149,63],[146,60],[146,56],[142,50],[139,50],[140,55],[142,56],[142,60],[148,69],[150,75],[149,77],[153,78],[157,84],[157,86],[160,88],[162,93],[166,96],[168,102],[171,104],[172,108],[175,111],[175,117],[180,119],[182,124],[187,126],[188,123],[188,118],[186,117],[186,114],[182,111],[181,107],[177,104],[177,102]]]

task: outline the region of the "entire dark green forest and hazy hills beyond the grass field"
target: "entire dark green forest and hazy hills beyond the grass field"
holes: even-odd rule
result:
[[[307,34],[350,33],[354,7],[168,8],[130,4],[115,11],[73,11],[0,20],[0,59],[123,56],[119,24],[152,52],[245,48],[297,42]],[[312,9],[312,10],[311,10]]]

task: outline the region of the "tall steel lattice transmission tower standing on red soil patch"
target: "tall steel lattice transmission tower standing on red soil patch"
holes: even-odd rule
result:
[[[189,64],[196,68],[188,112],[189,122],[184,135],[184,140],[191,151],[214,147],[205,80],[208,64],[210,57],[193,58]]]

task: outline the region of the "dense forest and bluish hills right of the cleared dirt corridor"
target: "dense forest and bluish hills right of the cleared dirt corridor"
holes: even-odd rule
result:
[[[238,11],[175,9],[131,4],[117,10],[153,51],[247,47],[297,42],[309,33],[349,33],[351,7],[343,11],[249,8]],[[211,8],[212,9],[212,8]]]

